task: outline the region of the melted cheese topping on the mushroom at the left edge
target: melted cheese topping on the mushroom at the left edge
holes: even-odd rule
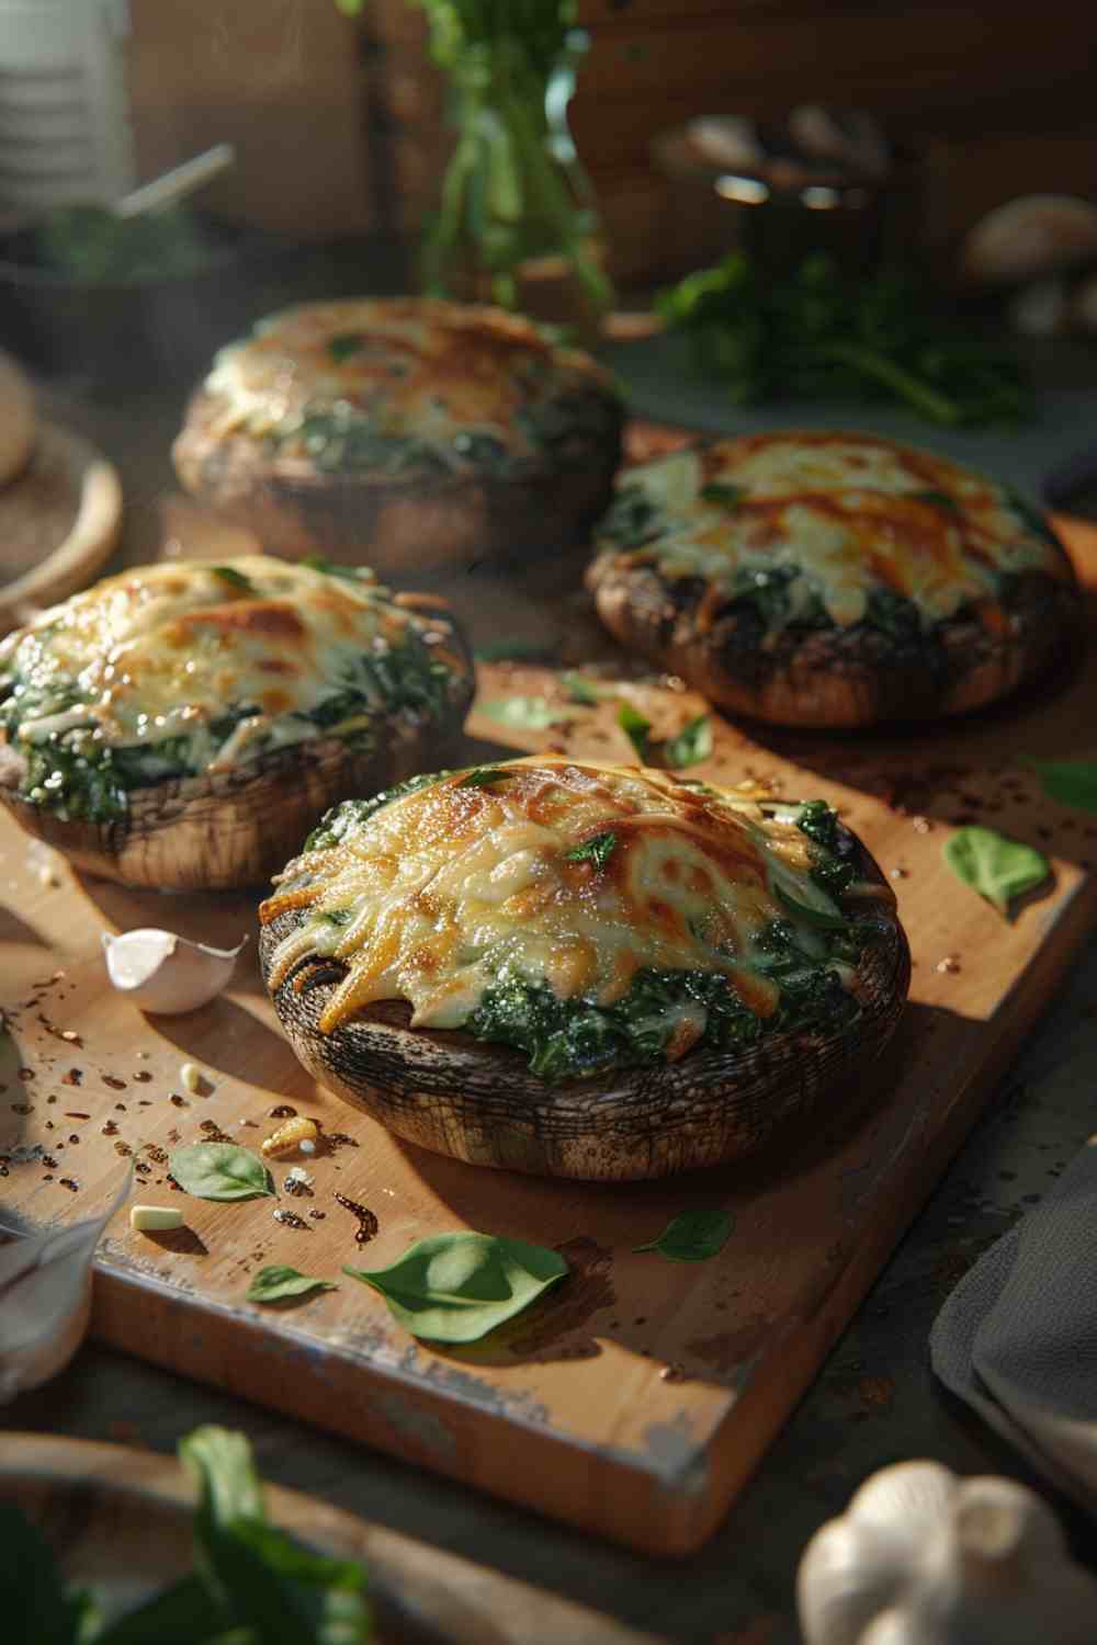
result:
[[[8,635],[0,673],[46,701],[79,699],[25,717],[20,739],[44,742],[76,727],[109,745],[183,735],[191,770],[204,770],[245,758],[257,740],[270,747],[322,735],[301,716],[349,686],[368,694],[362,656],[383,656],[411,635],[462,666],[447,646],[449,625],[400,605],[372,572],[336,577],[263,554],[237,558],[225,571],[197,561],[135,568]],[[220,747],[209,727],[234,706],[253,712]]]

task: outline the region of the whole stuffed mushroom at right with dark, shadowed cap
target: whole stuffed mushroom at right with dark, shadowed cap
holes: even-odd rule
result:
[[[595,548],[587,584],[618,640],[775,725],[969,712],[1079,632],[1038,510],[872,434],[743,434],[628,469]]]

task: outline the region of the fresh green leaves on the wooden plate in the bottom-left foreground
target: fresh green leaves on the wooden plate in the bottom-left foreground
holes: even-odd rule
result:
[[[0,1602],[10,1645],[368,1645],[367,1578],[271,1525],[252,1448],[225,1428],[179,1443],[199,1500],[194,1569],[105,1622],[95,1594],[66,1587],[41,1533],[0,1504]]]

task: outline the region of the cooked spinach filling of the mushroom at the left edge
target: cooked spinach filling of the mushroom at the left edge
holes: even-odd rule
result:
[[[339,568],[332,574],[345,576],[347,571]],[[48,633],[41,630],[46,645]],[[388,716],[405,709],[439,717],[447,694],[446,665],[431,655],[418,633],[408,630],[401,643],[388,651],[355,656],[344,681],[334,684],[314,707],[288,714],[286,719],[309,727],[299,737],[276,737],[273,730],[262,729],[240,752],[238,763],[316,734],[368,745],[378,712]],[[0,674],[0,727],[26,765],[18,793],[66,819],[89,822],[122,821],[128,814],[128,795],[137,788],[199,775],[242,721],[262,716],[255,702],[235,702],[194,735],[123,745],[104,742],[90,716],[87,725],[53,732],[41,742],[20,739],[25,722],[81,707],[84,701],[77,683],[67,676],[35,679],[18,673]]]

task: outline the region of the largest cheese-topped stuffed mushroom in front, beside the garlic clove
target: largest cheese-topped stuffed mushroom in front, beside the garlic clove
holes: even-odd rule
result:
[[[757,1148],[885,1043],[910,954],[822,803],[536,755],[345,801],[260,959],[298,1056],[482,1165],[646,1178]]]

